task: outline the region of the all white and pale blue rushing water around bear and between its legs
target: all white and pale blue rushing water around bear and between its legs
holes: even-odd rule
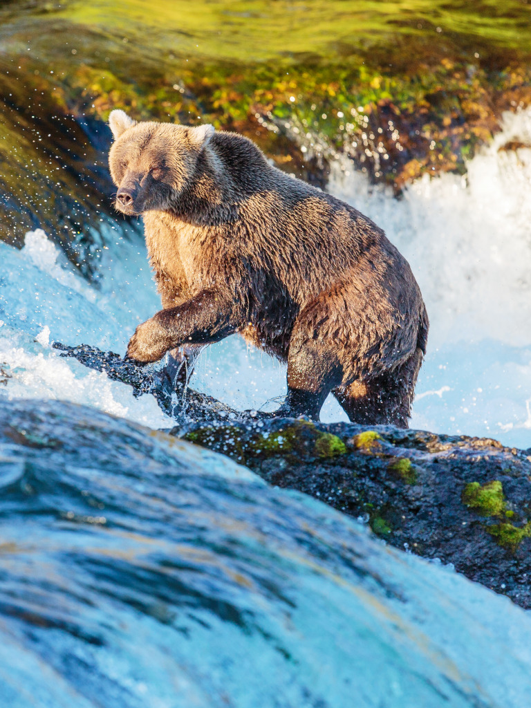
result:
[[[411,426],[529,447],[531,148],[500,149],[511,141],[531,145],[531,110],[504,115],[466,178],[424,177],[396,200],[338,162],[329,190],[386,230],[421,285],[431,329]],[[144,244],[111,233],[99,290],[69,269],[43,232],[28,234],[22,251],[0,244],[2,389],[167,427],[151,396],[135,399],[125,385],[49,346],[57,340],[124,353],[135,326],[159,309]],[[285,394],[285,369],[232,337],[202,353],[193,386],[236,408],[260,408]],[[321,418],[346,416],[330,397]]]

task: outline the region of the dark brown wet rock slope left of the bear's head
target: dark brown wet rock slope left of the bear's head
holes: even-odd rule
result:
[[[15,72],[0,57],[0,240],[20,248],[26,232],[44,229],[93,278],[105,229],[115,220],[110,131],[61,105],[47,73]]]

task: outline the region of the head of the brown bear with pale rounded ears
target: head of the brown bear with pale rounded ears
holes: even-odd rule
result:
[[[123,110],[110,113],[109,126],[114,137],[109,167],[118,187],[116,208],[132,216],[175,207],[215,132],[212,125],[136,122]]]

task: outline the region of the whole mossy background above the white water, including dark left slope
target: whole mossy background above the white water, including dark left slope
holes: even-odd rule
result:
[[[0,25],[0,239],[41,225],[87,275],[113,108],[239,131],[321,186],[345,152],[399,191],[531,103],[522,0],[19,0]]]

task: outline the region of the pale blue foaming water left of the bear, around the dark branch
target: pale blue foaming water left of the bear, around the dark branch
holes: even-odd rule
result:
[[[112,257],[105,250],[99,290],[69,268],[40,229],[26,234],[21,251],[0,244],[2,393],[74,401],[144,425],[167,426],[169,419],[151,396],[135,399],[130,387],[60,357],[50,346],[62,341],[124,351],[135,326],[159,308],[142,241],[118,235],[108,241]]]

